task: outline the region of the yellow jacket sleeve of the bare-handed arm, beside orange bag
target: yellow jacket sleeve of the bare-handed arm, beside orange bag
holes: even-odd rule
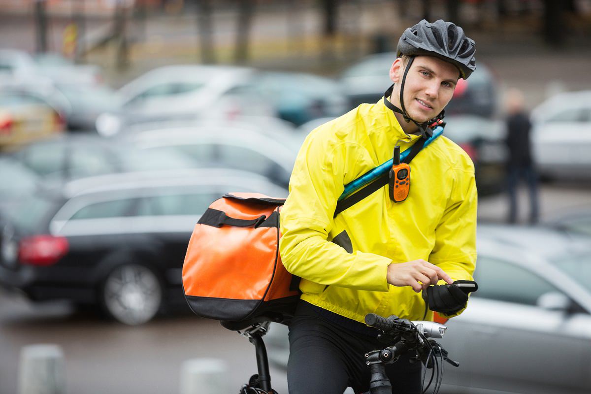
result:
[[[362,149],[328,138],[327,131],[311,133],[296,159],[290,194],[280,214],[281,260],[287,271],[317,284],[388,291],[391,259],[348,253],[327,240],[347,178],[345,163],[355,162],[355,152]]]

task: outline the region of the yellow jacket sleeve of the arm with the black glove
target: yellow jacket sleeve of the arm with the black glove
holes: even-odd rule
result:
[[[472,281],[476,267],[478,200],[473,164],[469,162],[463,168],[450,171],[454,175],[452,194],[436,228],[436,243],[429,262],[443,269],[454,281]]]

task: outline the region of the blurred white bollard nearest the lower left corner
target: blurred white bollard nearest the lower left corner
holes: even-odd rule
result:
[[[21,349],[19,394],[64,394],[66,366],[60,346],[40,344]]]

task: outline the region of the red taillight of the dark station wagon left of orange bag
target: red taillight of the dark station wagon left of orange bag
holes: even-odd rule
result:
[[[47,266],[57,263],[68,252],[68,240],[64,237],[36,235],[21,239],[18,259],[22,264]]]

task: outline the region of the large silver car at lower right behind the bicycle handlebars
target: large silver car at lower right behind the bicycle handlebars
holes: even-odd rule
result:
[[[478,227],[479,284],[440,343],[441,392],[583,394],[591,390],[591,245],[551,229]],[[269,360],[287,366],[287,327],[265,336]]]

